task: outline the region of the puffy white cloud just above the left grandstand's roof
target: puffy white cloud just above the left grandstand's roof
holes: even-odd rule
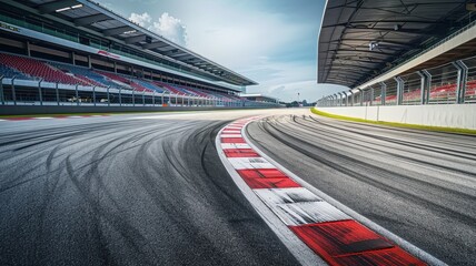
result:
[[[179,20],[165,12],[160,16],[159,21],[152,21],[149,13],[131,13],[129,20],[179,45],[187,45],[187,28]]]

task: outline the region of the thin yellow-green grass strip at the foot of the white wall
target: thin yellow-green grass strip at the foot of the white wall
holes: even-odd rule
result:
[[[344,121],[359,122],[359,123],[368,123],[368,124],[378,124],[378,125],[388,125],[396,127],[405,127],[405,129],[414,129],[414,130],[425,130],[425,131],[435,131],[435,132],[445,132],[445,133],[457,133],[457,134],[469,134],[476,135],[476,130],[467,130],[467,129],[457,129],[457,127],[446,127],[446,126],[432,126],[432,125],[419,125],[419,124],[406,124],[406,123],[397,123],[397,122],[385,122],[385,121],[375,121],[375,120],[365,120],[365,119],[356,119],[344,115],[331,114],[327,112],[323,112],[317,110],[316,108],[311,108],[310,112],[314,114],[337,119]]]

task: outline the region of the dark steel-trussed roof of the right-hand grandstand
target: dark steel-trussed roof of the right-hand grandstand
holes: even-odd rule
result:
[[[319,34],[317,82],[356,88],[371,80],[467,24],[468,2],[328,1]]]

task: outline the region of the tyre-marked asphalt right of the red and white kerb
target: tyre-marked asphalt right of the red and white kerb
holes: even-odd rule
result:
[[[476,262],[476,137],[295,111],[247,134],[313,186],[449,265]]]

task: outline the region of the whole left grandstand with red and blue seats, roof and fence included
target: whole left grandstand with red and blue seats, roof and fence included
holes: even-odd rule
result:
[[[278,106],[257,84],[89,0],[2,1],[2,105]]]

